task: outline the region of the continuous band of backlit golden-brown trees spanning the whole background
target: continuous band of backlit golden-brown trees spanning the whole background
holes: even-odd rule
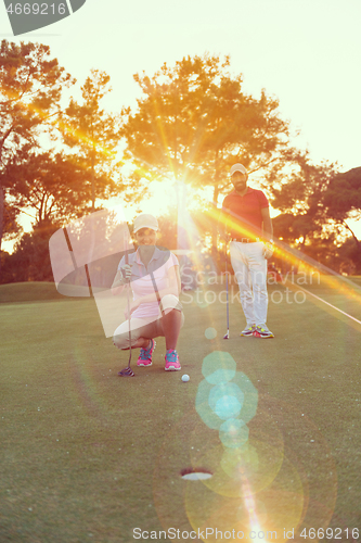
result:
[[[34,231],[23,236],[16,255],[2,257],[11,268],[7,277],[49,277],[49,263],[42,275],[36,269],[54,229],[94,212],[96,199],[121,194],[140,203],[147,195],[144,180],[162,178],[191,190],[211,189],[212,203],[207,201],[192,220],[216,258],[217,204],[231,188],[228,173],[234,162],[258,173],[281,211],[273,219],[275,236],[331,267],[359,269],[361,244],[347,219],[361,214],[361,168],[340,174],[337,165],[312,164],[308,152],[294,149],[278,99],[265,90],[259,98],[244,92],[243,76],[231,72],[229,56],[185,56],[153,76],[133,77],[142,91],[133,111],[106,111],[109,76],[99,70],[81,86],[81,100],[72,98],[62,110],[62,90],[74,79],[51,59],[49,48],[1,42],[0,247],[2,232],[18,237],[20,210],[29,209],[34,217]],[[44,135],[48,142],[56,141],[56,150],[42,149]],[[164,216],[162,222],[163,241],[175,244],[177,220]],[[349,232],[353,240],[345,241]],[[17,274],[20,262],[28,263],[28,274]]]

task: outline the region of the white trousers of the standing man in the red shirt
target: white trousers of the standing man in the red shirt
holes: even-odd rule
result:
[[[232,267],[240,287],[247,326],[266,325],[267,321],[267,260],[263,256],[263,247],[261,241],[230,243]]]

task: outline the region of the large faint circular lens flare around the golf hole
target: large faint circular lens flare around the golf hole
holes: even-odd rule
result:
[[[186,413],[166,435],[154,469],[154,503],[164,529],[214,529],[203,541],[215,542],[216,529],[243,531],[248,539],[254,531],[254,541],[276,531],[282,542],[299,527],[325,530],[336,503],[336,468],[315,425],[306,416],[299,420],[291,404],[259,395],[247,444],[229,449],[195,411]],[[186,481],[184,468],[212,477]]]

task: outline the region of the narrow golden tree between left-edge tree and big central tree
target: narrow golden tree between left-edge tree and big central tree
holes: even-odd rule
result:
[[[114,173],[120,177],[114,164],[120,137],[119,116],[101,109],[102,99],[112,90],[109,79],[105,72],[92,70],[81,87],[82,104],[72,99],[63,115],[64,141],[77,148],[82,159],[92,212],[96,198],[108,198],[119,190],[112,178]]]

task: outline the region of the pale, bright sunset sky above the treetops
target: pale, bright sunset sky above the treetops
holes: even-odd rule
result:
[[[244,91],[278,97],[282,116],[301,132],[295,144],[314,162],[337,162],[340,172],[361,166],[359,0],[87,0],[72,16],[16,38],[2,9],[1,39],[49,45],[77,88],[92,67],[107,72],[111,111],[136,106],[134,73],[153,75],[189,54],[230,54]]]

